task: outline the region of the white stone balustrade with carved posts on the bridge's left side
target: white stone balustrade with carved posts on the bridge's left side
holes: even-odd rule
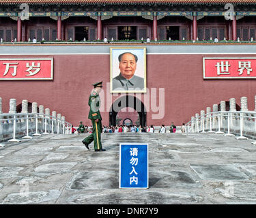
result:
[[[27,100],[23,100],[22,106],[22,112],[17,113],[16,99],[10,99],[9,113],[2,113],[0,97],[0,142],[8,139],[10,142],[20,142],[17,138],[22,136],[32,138],[41,134],[71,134],[72,125],[65,121],[65,116],[55,111],[50,115],[48,108],[44,113],[43,106],[40,106],[38,112],[36,102],[32,104],[31,113],[27,112]],[[3,146],[3,144],[0,145]]]

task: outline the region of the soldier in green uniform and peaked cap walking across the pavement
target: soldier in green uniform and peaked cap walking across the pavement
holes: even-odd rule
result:
[[[99,93],[102,90],[102,82],[96,82],[92,84],[94,90],[91,92],[89,97],[89,115],[88,119],[91,120],[93,133],[85,138],[82,142],[85,144],[86,148],[89,149],[89,144],[94,141],[94,151],[106,151],[102,149],[102,144],[100,141],[100,134],[102,132],[102,118],[100,116],[100,96]]]

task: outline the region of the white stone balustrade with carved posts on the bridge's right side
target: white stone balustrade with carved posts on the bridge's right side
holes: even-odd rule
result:
[[[256,106],[256,95],[255,95]],[[201,110],[201,114],[195,114],[191,121],[186,123],[187,133],[215,133],[224,134],[224,136],[235,136],[238,140],[256,138],[256,110],[247,109],[247,98],[241,97],[241,110],[236,111],[236,99],[229,99],[229,111],[225,110],[225,102],[221,102],[221,111],[218,111],[218,105],[207,108],[207,113]],[[247,136],[247,137],[246,137]],[[252,142],[256,144],[255,142]]]

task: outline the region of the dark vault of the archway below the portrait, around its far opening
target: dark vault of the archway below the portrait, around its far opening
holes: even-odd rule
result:
[[[140,99],[132,95],[123,95],[113,102],[109,110],[109,125],[117,125],[117,113],[123,108],[133,108],[139,114],[139,125],[141,127],[146,125],[147,110]]]

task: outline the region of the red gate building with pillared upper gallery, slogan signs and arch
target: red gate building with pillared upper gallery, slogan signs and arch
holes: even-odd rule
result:
[[[242,96],[255,110],[255,28],[256,0],[2,0],[3,112],[27,99],[91,125],[99,81],[103,125],[182,125]],[[142,91],[113,90],[124,52],[138,54]]]

